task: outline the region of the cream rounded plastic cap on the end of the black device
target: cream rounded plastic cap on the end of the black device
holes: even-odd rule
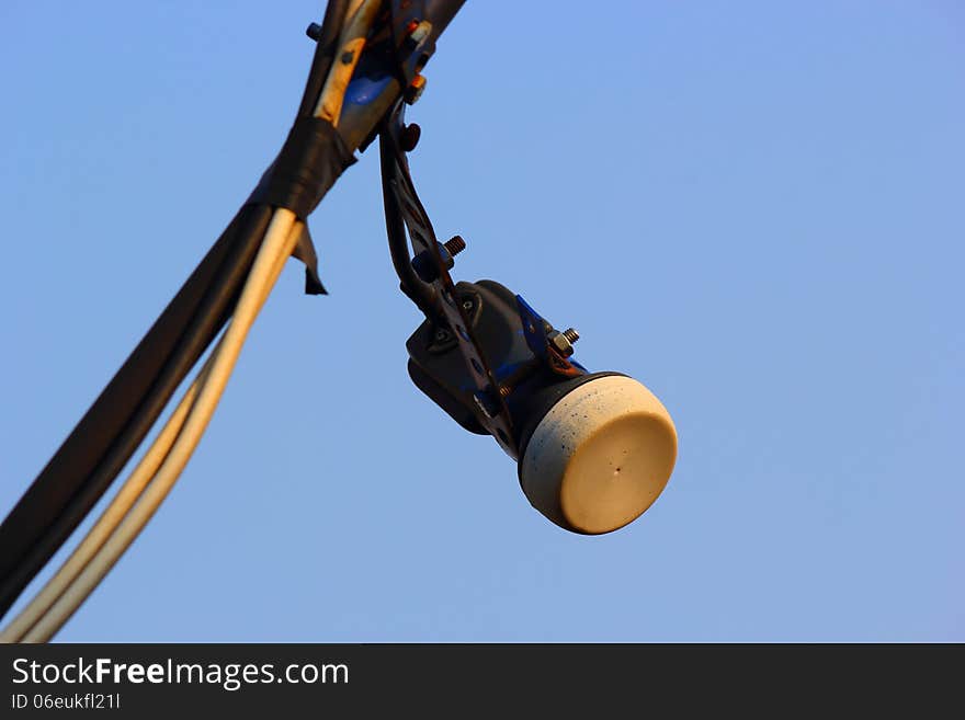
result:
[[[575,533],[599,535],[639,517],[677,459],[670,413],[644,385],[611,375],[565,395],[536,425],[520,462],[533,506]]]

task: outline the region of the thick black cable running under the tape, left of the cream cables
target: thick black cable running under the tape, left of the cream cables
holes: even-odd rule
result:
[[[348,0],[326,9],[299,116],[331,67]],[[0,616],[121,472],[231,316],[271,208],[246,205],[0,524]]]

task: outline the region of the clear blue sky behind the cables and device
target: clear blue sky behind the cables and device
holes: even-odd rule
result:
[[[411,386],[368,151],[310,220],[331,295],[290,264],[60,640],[965,640],[961,4],[549,4],[467,2],[411,162],[458,277],[671,411],[657,504],[567,534]],[[274,156],[321,12],[0,7],[4,513]]]

